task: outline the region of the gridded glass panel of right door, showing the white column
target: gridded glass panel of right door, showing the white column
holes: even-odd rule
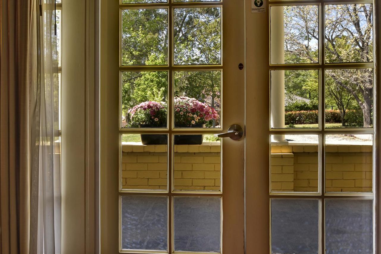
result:
[[[271,252],[374,253],[373,2],[270,3]]]

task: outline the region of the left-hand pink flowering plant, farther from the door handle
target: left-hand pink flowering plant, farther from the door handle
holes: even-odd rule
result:
[[[167,106],[165,102],[145,101],[128,110],[131,127],[165,127]]]

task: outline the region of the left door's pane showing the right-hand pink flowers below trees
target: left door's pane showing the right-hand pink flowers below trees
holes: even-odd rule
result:
[[[221,127],[221,71],[174,72],[174,127]]]

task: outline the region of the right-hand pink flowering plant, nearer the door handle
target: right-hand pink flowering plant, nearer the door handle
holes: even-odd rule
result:
[[[174,98],[174,125],[193,127],[207,124],[210,120],[217,120],[217,111],[195,98],[186,96]]]

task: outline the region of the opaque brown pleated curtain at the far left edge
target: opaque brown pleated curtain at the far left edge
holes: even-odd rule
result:
[[[29,0],[0,0],[0,253],[29,253]]]

